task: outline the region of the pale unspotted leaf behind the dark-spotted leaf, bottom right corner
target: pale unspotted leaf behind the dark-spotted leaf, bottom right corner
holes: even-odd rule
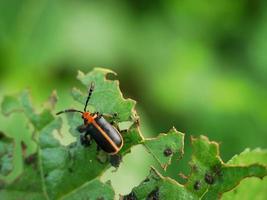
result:
[[[260,163],[267,165],[267,150],[246,149],[241,154],[234,156],[227,164],[231,165],[249,165],[253,163]],[[225,193],[222,199],[267,199],[267,177],[263,180],[257,178],[244,179],[232,191]]]

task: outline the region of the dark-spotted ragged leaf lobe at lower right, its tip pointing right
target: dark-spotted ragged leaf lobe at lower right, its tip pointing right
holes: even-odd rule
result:
[[[217,199],[246,177],[262,178],[267,168],[260,164],[228,165],[219,157],[219,145],[201,136],[192,139],[192,171],[185,187],[203,199]],[[196,188],[196,183],[199,187]]]

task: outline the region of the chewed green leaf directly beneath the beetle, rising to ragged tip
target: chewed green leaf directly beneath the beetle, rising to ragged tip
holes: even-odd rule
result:
[[[133,145],[139,144],[143,138],[134,119],[134,101],[123,99],[118,82],[106,80],[107,71],[95,69],[87,75],[80,72],[79,79],[87,87],[90,85],[91,80],[94,80],[95,91],[92,95],[92,101],[90,100],[89,102],[90,107],[103,114],[116,113],[118,119],[122,120],[122,122],[123,119],[130,120],[130,123],[126,124],[127,127],[124,127],[124,132],[121,133],[124,139],[124,146],[119,153],[124,155],[129,152]],[[84,105],[88,95],[87,92],[84,94],[73,93],[73,97]],[[77,138],[76,142],[69,146],[63,146],[54,137],[53,133],[61,129],[62,121],[60,118],[43,128],[40,133],[40,158],[45,190],[52,199],[64,198],[66,194],[71,194],[71,196],[66,196],[70,198],[79,197],[78,191],[86,190],[84,189],[85,185],[91,185],[91,181],[111,166],[109,163],[111,157],[104,151],[98,151],[97,144],[94,141],[87,147],[81,145],[81,133],[77,131],[77,127],[83,124],[81,115],[79,113],[67,113],[66,115],[69,131]],[[102,189],[106,190],[107,188]],[[81,196],[88,194],[81,194]]]

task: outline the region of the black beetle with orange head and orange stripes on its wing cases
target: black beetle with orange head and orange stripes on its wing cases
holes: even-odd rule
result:
[[[104,118],[104,114],[99,114],[98,112],[91,113],[87,111],[87,105],[93,94],[93,91],[94,82],[91,83],[83,111],[76,109],[66,109],[56,113],[56,115],[67,112],[81,113],[81,117],[84,123],[83,125],[78,127],[78,131],[80,133],[85,132],[84,135],[81,135],[81,144],[89,145],[91,138],[93,138],[99,148],[110,155],[115,155],[123,146],[123,138],[118,129],[111,125]],[[106,117],[108,117],[108,115],[106,115]]]

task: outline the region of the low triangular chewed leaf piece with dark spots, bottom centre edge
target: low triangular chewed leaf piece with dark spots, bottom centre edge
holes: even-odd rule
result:
[[[130,194],[121,197],[121,200],[129,199],[188,200],[198,199],[198,197],[188,192],[183,185],[173,179],[163,177],[152,168],[148,177],[139,186],[133,188]]]

